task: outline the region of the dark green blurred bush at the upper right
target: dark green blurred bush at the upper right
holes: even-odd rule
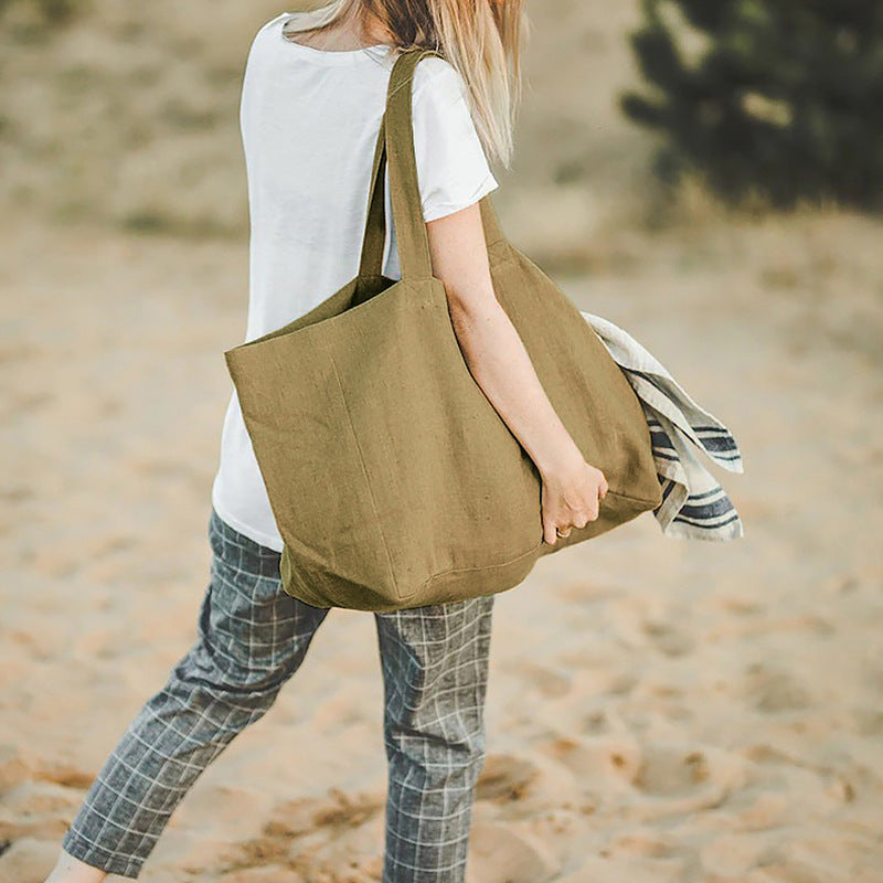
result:
[[[650,95],[620,108],[667,136],[657,170],[691,169],[727,202],[883,208],[880,0],[642,0],[630,34]],[[679,20],[677,20],[679,19]],[[685,46],[701,42],[691,60]]]

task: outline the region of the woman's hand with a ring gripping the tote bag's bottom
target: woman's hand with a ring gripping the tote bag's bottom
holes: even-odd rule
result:
[[[555,544],[557,532],[570,536],[573,528],[585,528],[598,517],[598,507],[607,493],[607,479],[600,469],[582,456],[557,462],[541,472],[543,540]]]

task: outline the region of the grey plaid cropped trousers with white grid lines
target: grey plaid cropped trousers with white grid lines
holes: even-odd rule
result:
[[[286,595],[279,553],[214,508],[209,539],[196,640],[131,721],[62,841],[108,873],[138,876],[188,789],[270,708],[328,614]],[[493,598],[374,614],[389,770],[384,883],[465,879]]]

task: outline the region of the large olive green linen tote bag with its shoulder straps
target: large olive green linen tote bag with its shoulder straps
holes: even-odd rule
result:
[[[493,286],[552,405],[609,490],[597,520],[543,540],[540,475],[476,383],[434,277],[396,60],[371,177],[358,276],[309,312],[227,350],[285,547],[286,593],[316,607],[392,611],[521,583],[538,558],[661,502],[649,428],[578,309],[506,240],[480,201]],[[382,275],[389,162],[400,280]]]

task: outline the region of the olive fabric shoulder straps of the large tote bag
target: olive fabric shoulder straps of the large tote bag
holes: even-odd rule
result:
[[[430,49],[412,49],[396,58],[386,91],[386,109],[381,119],[374,147],[369,209],[362,240],[360,276],[381,276],[383,246],[386,238],[383,184],[389,159],[390,191],[395,223],[402,278],[432,277],[429,241],[419,196],[417,163],[414,156],[412,120],[412,83],[414,70],[425,55],[442,53]],[[504,238],[490,195],[479,200],[485,241],[488,246]]]

